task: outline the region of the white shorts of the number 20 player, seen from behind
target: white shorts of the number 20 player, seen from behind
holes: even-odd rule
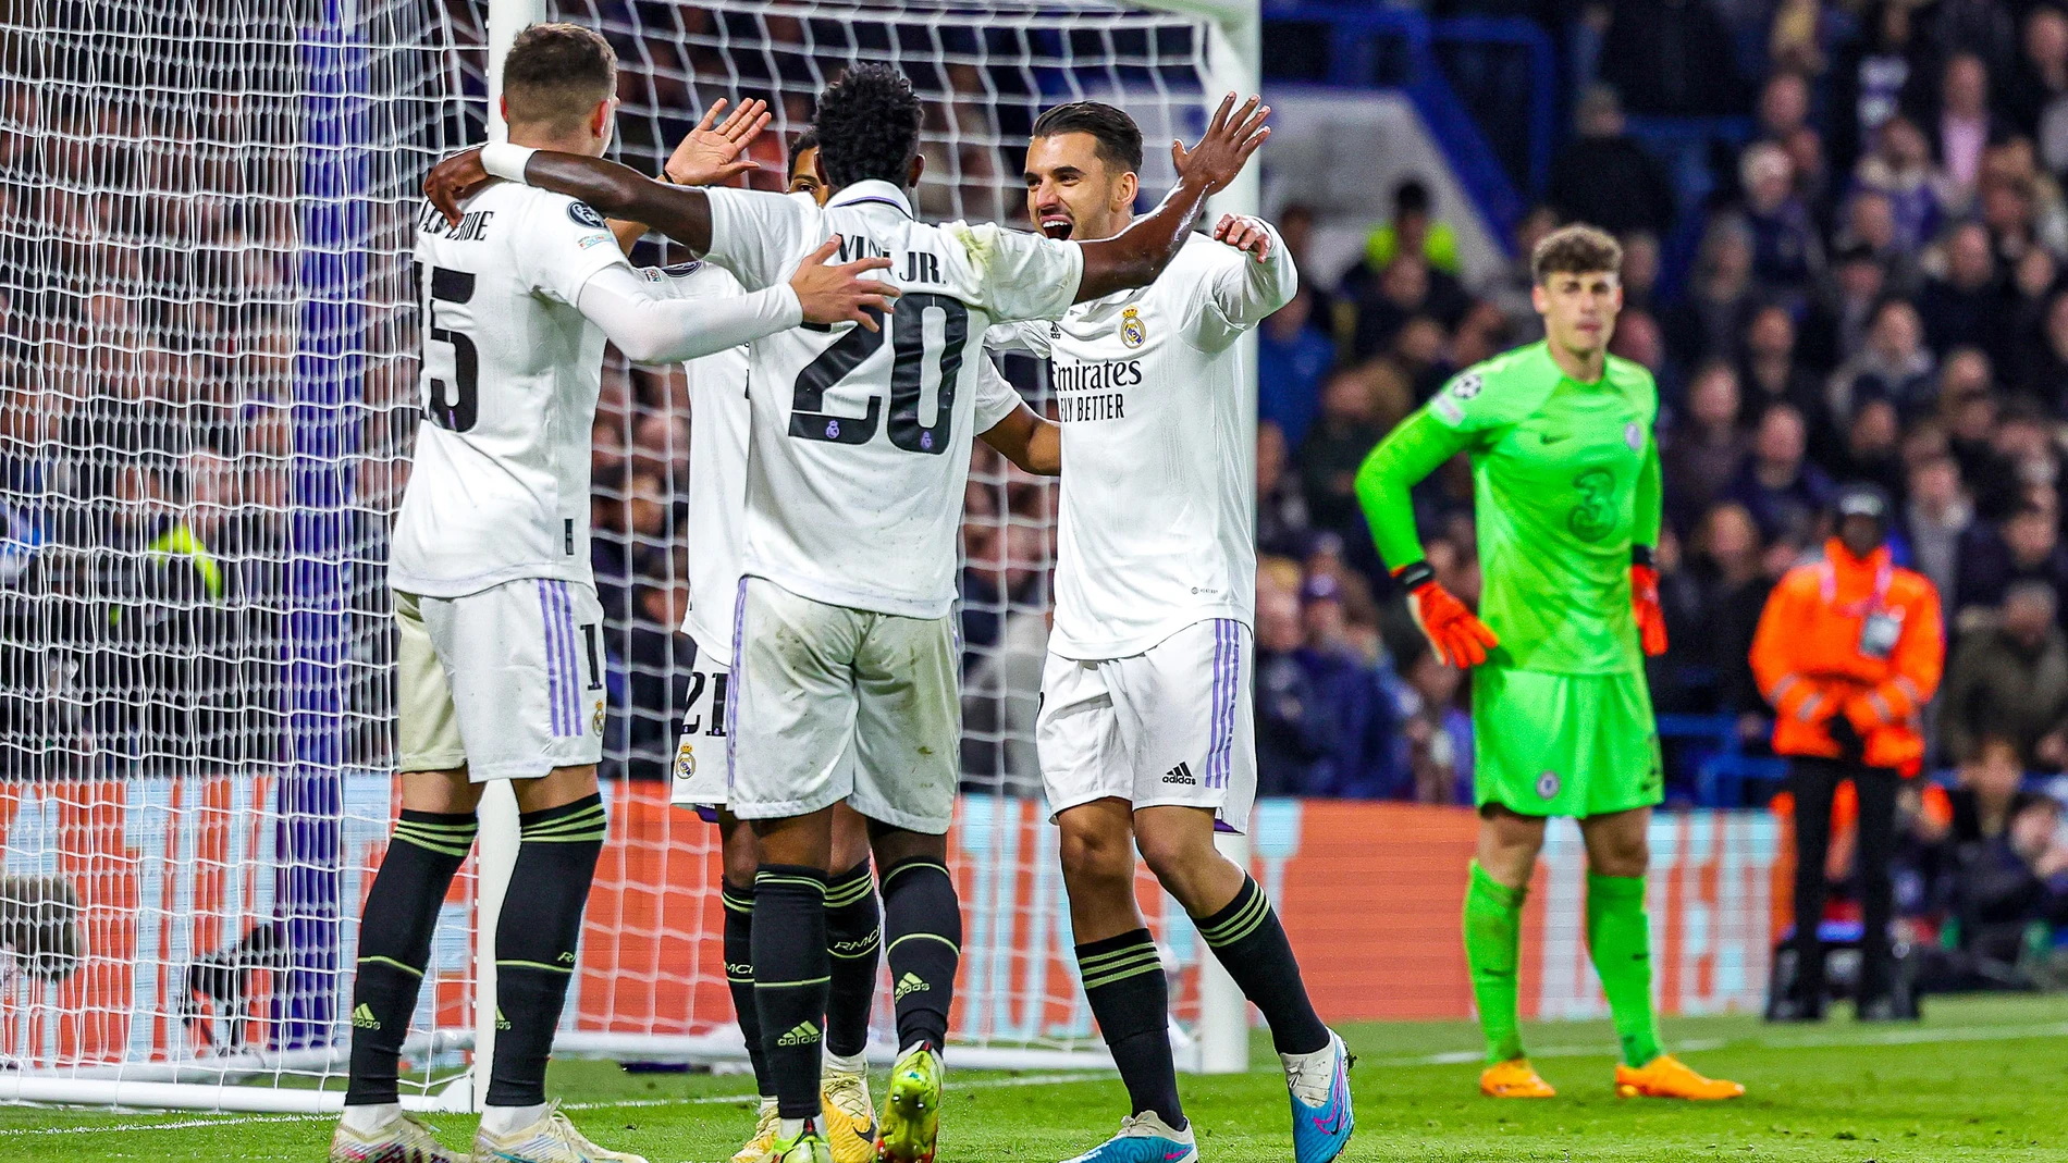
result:
[[[840,799],[895,828],[955,816],[955,616],[900,618],[740,578],[732,614],[730,810],[807,816]]]

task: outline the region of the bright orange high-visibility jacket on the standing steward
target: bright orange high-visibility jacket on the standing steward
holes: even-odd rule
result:
[[[1917,775],[1923,709],[1946,667],[1946,628],[1932,583],[1855,558],[1832,537],[1824,560],[1781,578],[1752,636],[1752,675],[1774,706],[1774,752],[1838,758],[1832,715],[1865,742],[1867,766]]]

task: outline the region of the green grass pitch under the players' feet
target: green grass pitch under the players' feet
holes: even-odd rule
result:
[[[1479,1097],[1470,1025],[1357,1025],[1344,1035],[1361,1058],[1350,1161],[2068,1161],[2068,998],[1936,1000],[1921,1027],[1667,1023],[1669,1043],[1696,1068],[1745,1082],[1743,1099],[1712,1105],[1617,1101],[1607,1023],[1528,1029],[1539,1068],[1559,1087],[1543,1103]],[[1249,1074],[1183,1078],[1206,1159],[1290,1159],[1268,1041],[1251,1062]],[[625,1074],[604,1062],[556,1064],[552,1078],[598,1142],[653,1163],[728,1159],[753,1122],[740,1099],[749,1089],[740,1076]],[[1111,1134],[1121,1113],[1111,1074],[951,1074],[941,1161],[1055,1163]],[[467,1118],[432,1122],[453,1146],[474,1130]],[[329,1132],[327,1118],[0,1107],[0,1159],[316,1163]]]

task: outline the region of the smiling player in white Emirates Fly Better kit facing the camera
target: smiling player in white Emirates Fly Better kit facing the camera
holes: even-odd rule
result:
[[[1133,217],[1142,130],[1075,101],[1028,145],[1028,215],[1048,238],[1111,238]],[[1051,359],[1063,419],[1055,628],[1034,727],[1084,992],[1133,1113],[1084,1163],[1187,1163],[1162,963],[1135,907],[1135,849],[1185,907],[1284,1058],[1297,1163],[1350,1136],[1348,1054],[1315,1016],[1270,901],[1214,847],[1247,830],[1255,395],[1243,331],[1292,297],[1278,233],[1226,215],[1156,283],[1079,302],[1059,324],[993,328]]]

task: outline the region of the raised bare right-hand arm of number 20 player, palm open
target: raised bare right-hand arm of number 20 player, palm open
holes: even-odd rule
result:
[[[1249,155],[1272,136],[1272,130],[1264,128],[1270,112],[1272,107],[1259,105],[1257,97],[1235,109],[1235,93],[1228,93],[1199,145],[1185,149],[1173,140],[1170,163],[1177,165],[1177,186],[1162,205],[1121,233],[1082,244],[1084,277],[1077,281],[1077,302],[1154,283],[1185,248],[1185,235],[1199,219],[1206,198],[1235,182]]]

